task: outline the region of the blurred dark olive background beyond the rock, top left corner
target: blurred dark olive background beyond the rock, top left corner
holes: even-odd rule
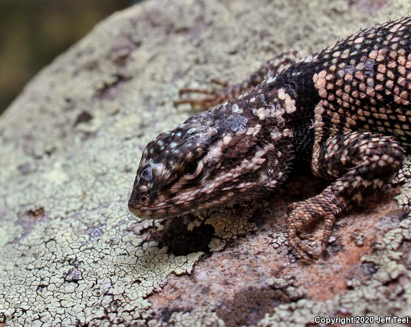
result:
[[[138,0],[0,0],[0,114],[23,86],[104,17]]]

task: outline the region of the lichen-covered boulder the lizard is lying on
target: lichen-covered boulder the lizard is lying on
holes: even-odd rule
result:
[[[407,0],[151,0],[96,26],[0,117],[0,327],[410,316],[403,173],[341,217],[311,265],[285,231],[288,204],[324,187],[315,179],[203,217],[127,211],[146,143],[192,114],[172,106],[180,88],[239,82],[279,51],[304,56],[410,12]]]

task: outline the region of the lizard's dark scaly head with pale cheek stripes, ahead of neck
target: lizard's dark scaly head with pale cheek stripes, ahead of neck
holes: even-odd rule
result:
[[[273,163],[275,155],[257,138],[258,117],[237,110],[236,104],[220,105],[151,140],[137,170],[130,212],[149,219],[172,217],[256,198],[273,188],[279,176],[267,175],[267,162]],[[281,174],[279,166],[271,170]]]

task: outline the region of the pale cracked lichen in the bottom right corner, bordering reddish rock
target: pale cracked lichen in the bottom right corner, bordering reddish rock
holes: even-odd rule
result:
[[[300,299],[279,305],[272,315],[261,319],[257,326],[303,326],[315,316],[411,316],[411,272],[402,260],[405,242],[411,241],[411,216],[387,232],[371,255],[360,261],[372,265],[372,277],[365,281],[347,281],[351,288],[344,296],[326,301]],[[401,301],[398,299],[401,298]],[[371,324],[377,325],[377,324]]]

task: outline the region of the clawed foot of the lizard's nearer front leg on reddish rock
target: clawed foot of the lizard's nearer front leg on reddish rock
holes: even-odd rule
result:
[[[338,206],[332,202],[326,202],[326,198],[321,195],[294,206],[288,218],[288,243],[303,260],[314,262],[316,259],[325,257],[328,239],[335,222],[335,213],[339,211]],[[305,228],[319,219],[325,221],[321,240],[321,253],[317,253],[311,246],[303,242],[303,240],[312,236],[305,231]]]

